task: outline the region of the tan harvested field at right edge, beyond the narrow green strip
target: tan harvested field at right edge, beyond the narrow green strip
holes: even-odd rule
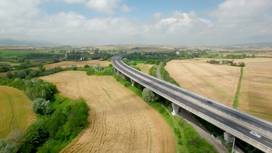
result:
[[[272,62],[246,64],[243,68],[238,109],[272,121],[271,93]]]

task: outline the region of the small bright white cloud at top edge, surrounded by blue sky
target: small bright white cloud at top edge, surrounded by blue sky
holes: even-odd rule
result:
[[[89,0],[85,5],[97,12],[114,14],[114,9],[119,6],[120,2],[121,0]]]

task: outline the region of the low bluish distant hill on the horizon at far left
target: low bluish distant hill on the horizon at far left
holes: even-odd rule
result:
[[[8,46],[35,46],[35,45],[57,45],[57,43],[47,41],[27,41],[27,40],[14,40],[14,39],[0,39],[0,45]]]

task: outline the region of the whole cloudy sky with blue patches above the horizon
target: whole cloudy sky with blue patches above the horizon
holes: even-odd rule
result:
[[[64,45],[272,42],[271,0],[0,0],[0,39]]]

